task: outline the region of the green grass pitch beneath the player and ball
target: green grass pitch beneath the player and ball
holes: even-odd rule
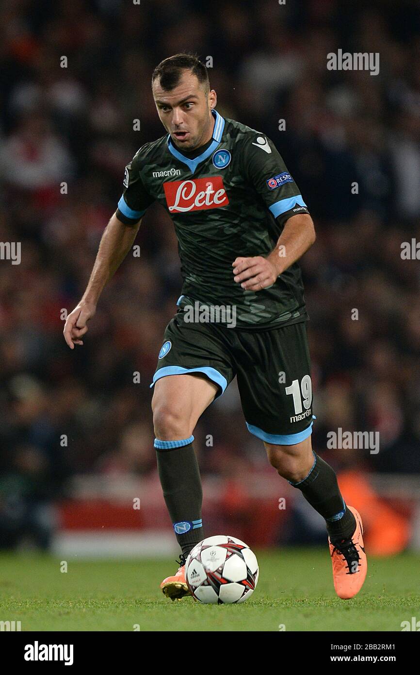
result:
[[[159,589],[174,560],[60,560],[33,553],[0,556],[0,621],[24,630],[400,631],[420,619],[420,557],[370,558],[352,600],[336,597],[326,549],[256,551],[260,580],[241,605],[171,602]],[[138,629],[137,629],[138,630]]]

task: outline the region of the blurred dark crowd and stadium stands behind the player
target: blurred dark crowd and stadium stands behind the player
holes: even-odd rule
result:
[[[154,65],[195,51],[213,59],[218,111],[274,140],[316,223],[301,261],[313,446],[361,510],[369,551],[419,549],[420,269],[400,254],[420,240],[418,5],[16,0],[0,9],[0,35],[0,240],[22,243],[20,265],[0,261],[0,546],[177,551],[150,412],[181,288],[160,207],[144,217],[140,258],[129,254],[105,290],[84,347],[67,348],[61,315],[84,291],[125,164],[162,136]],[[379,52],[380,74],[328,71],[337,49]],[[326,450],[339,427],[379,431],[380,452]],[[247,432],[235,383],[195,436],[208,535],[325,544],[322,518]]]

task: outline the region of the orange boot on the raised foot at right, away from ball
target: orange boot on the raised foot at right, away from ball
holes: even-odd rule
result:
[[[349,600],[359,593],[367,572],[367,558],[363,544],[363,525],[359,512],[347,506],[356,518],[356,529],[350,539],[330,544],[334,589],[342,600]]]

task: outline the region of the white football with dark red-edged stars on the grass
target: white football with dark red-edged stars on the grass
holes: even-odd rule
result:
[[[185,562],[185,578],[195,600],[224,605],[251,597],[258,583],[255,554],[240,539],[216,535],[193,547]]]

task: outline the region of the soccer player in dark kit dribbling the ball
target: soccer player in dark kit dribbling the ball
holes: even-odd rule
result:
[[[216,92],[195,56],[164,59],[152,92],[167,134],[144,144],[125,168],[123,195],[64,335],[72,349],[83,344],[102,289],[146,209],[160,202],[175,225],[183,276],[150,385],[158,473],[182,550],[178,571],[160,587],[173,600],[189,594],[185,558],[204,539],[193,430],[236,375],[247,428],[279,475],[325,518],[334,588],[351,598],[367,570],[361,518],[311,448],[307,313],[297,265],[315,241],[309,211],[270,138],[216,111]]]

